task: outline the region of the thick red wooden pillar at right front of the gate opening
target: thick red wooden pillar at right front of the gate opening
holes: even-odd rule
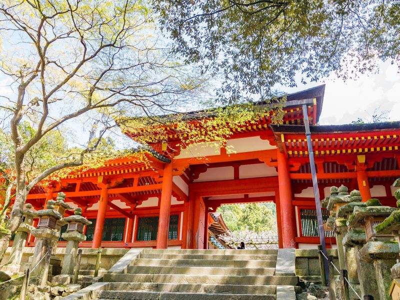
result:
[[[289,162],[284,153],[277,149],[278,180],[279,180],[279,206],[282,231],[283,248],[294,248],[296,236],[296,222],[294,206],[292,203]]]

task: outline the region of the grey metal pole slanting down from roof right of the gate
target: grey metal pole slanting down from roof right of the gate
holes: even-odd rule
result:
[[[311,142],[311,132],[309,130],[309,123],[308,123],[308,112],[307,112],[307,105],[302,105],[303,110],[303,121],[305,127],[305,137],[307,139],[307,148],[308,148],[308,158],[309,164],[311,168],[311,177],[312,177],[312,187],[314,189],[314,196],[315,196],[315,209],[316,209],[316,216],[318,220],[318,231],[319,231],[319,241],[322,246],[322,252],[325,256],[326,254],[326,244],[325,244],[325,231],[323,230],[323,220],[322,220],[322,210],[321,210],[321,203],[319,201],[319,189],[318,189],[318,181],[316,179],[316,171],[315,171],[315,162],[314,162],[314,152],[312,150],[312,142]],[[325,278],[328,278],[328,263],[324,259],[325,264]]]

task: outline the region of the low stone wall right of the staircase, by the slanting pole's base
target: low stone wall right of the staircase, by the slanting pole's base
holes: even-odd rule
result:
[[[333,263],[337,266],[337,249],[327,249],[328,255],[333,255]],[[296,249],[296,276],[300,280],[320,282],[319,258],[317,249]]]

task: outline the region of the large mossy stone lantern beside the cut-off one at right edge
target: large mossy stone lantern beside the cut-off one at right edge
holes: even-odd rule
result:
[[[379,298],[388,300],[391,298],[388,295],[391,283],[390,267],[398,257],[399,247],[397,242],[393,242],[391,236],[379,234],[375,227],[381,223],[382,218],[389,216],[397,208],[382,206],[378,199],[369,199],[366,205],[366,207],[354,207],[347,224],[349,227],[365,230],[366,242],[359,249],[359,259],[373,263]]]

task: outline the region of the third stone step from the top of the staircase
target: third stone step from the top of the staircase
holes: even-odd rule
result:
[[[275,267],[276,260],[137,258],[137,259],[132,261],[131,265],[204,266],[204,267],[209,267],[209,266],[221,266],[221,267]]]

